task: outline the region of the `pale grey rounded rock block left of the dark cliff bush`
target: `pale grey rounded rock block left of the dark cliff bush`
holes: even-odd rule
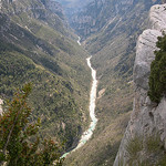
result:
[[[136,86],[148,90],[148,75],[151,63],[154,60],[157,37],[162,33],[157,30],[146,30],[139,35],[134,65],[134,82]]]

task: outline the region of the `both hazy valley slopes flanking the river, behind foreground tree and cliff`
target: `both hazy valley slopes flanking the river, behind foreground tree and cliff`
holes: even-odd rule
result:
[[[89,127],[92,55],[96,70],[97,125],[64,166],[112,166],[133,110],[136,42],[160,0],[1,0],[0,98],[33,84],[31,120],[42,137],[77,145]],[[77,43],[79,37],[81,45]]]

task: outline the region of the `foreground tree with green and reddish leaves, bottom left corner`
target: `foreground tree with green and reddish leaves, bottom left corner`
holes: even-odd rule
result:
[[[51,138],[38,136],[40,120],[30,122],[31,108],[27,104],[31,84],[18,91],[0,115],[0,165],[61,166],[59,146]]]

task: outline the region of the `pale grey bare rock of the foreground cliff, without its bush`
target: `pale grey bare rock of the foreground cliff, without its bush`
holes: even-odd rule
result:
[[[154,51],[156,50],[157,37],[166,31],[166,4],[152,7],[149,12],[149,28],[139,35],[137,41],[134,65],[134,108],[114,166],[128,165],[131,162],[131,152],[128,152],[132,149],[131,142],[134,143],[136,137],[138,138],[136,144],[138,142],[146,144],[147,138],[157,135],[159,142],[166,147],[166,97],[163,97],[162,102],[156,105],[147,96],[148,76],[151,63],[155,59]],[[128,146],[128,144],[131,145]],[[154,153],[153,155],[148,155],[145,152],[145,147],[141,147],[137,153],[139,154],[138,158],[135,158],[133,164],[136,164],[136,160],[142,163],[148,158],[154,165],[157,160]]]

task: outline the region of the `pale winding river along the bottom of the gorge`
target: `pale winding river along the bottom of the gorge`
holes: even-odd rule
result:
[[[77,43],[79,43],[79,45],[81,45],[80,38],[79,38]],[[91,124],[90,124],[89,128],[82,134],[77,146],[74,149],[72,149],[71,152],[65,153],[61,158],[66,157],[70,153],[82,147],[92,137],[93,131],[95,129],[95,126],[97,124],[97,118],[95,117],[95,101],[96,101],[97,80],[96,80],[96,71],[91,65],[91,58],[92,56],[86,59],[87,65],[91,69],[91,73],[92,73],[92,87],[91,87],[91,93],[90,93],[90,107],[89,107]]]

